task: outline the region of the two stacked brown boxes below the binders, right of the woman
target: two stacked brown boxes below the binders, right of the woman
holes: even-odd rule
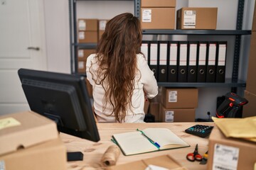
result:
[[[198,89],[169,88],[161,91],[161,122],[194,122],[198,106]]]

